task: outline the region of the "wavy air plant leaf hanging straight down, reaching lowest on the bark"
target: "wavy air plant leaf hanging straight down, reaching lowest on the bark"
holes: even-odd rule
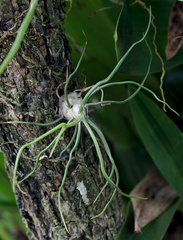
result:
[[[66,231],[67,231],[68,233],[69,233],[69,230],[68,230],[68,228],[67,228],[67,225],[66,225],[66,222],[65,222],[63,213],[62,213],[60,195],[61,195],[61,192],[62,192],[64,183],[65,183],[65,180],[66,180],[66,177],[67,177],[67,173],[68,173],[68,169],[69,169],[70,163],[71,163],[71,161],[72,161],[72,154],[73,154],[73,152],[76,150],[76,147],[77,147],[78,144],[79,144],[80,135],[81,135],[81,122],[78,123],[78,125],[76,126],[76,128],[77,128],[76,141],[75,141],[75,144],[74,144],[73,148],[72,148],[71,151],[70,151],[69,160],[68,160],[67,165],[66,165],[66,167],[65,167],[64,176],[63,176],[63,178],[62,178],[62,183],[61,183],[61,185],[60,185],[60,187],[59,187],[59,190],[58,190],[58,198],[57,198],[60,216],[61,216],[62,222],[63,222],[63,224],[64,224],[64,227],[65,227],[65,229],[66,229]]]

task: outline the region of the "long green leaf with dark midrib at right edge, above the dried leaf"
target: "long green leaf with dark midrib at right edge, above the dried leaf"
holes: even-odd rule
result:
[[[143,93],[132,99],[130,105],[135,126],[148,153],[183,199],[183,134],[167,114]]]

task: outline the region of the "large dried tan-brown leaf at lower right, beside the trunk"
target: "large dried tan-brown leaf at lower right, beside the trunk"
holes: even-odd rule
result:
[[[155,168],[130,193],[147,197],[147,200],[131,199],[135,213],[135,231],[158,217],[177,197],[177,193],[160,176]]]

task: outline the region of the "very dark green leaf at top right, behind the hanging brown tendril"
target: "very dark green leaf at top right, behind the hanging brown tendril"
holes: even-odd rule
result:
[[[129,46],[140,39],[146,29],[148,22],[148,11],[145,9],[151,6],[152,14],[154,16],[154,24],[156,26],[156,46],[158,53],[161,55],[165,68],[174,67],[182,64],[183,49],[179,50],[177,55],[171,60],[167,61],[165,58],[165,48],[167,45],[168,34],[168,19],[171,7],[175,1],[170,0],[144,0],[144,4],[132,4],[134,0],[124,1],[124,8],[118,23],[118,41],[117,41],[117,56],[120,58],[127,51]],[[140,2],[140,1],[139,1]],[[151,73],[161,72],[162,65],[160,59],[155,53],[153,45],[154,28],[151,29],[146,37],[147,42],[153,52],[153,61],[151,66]],[[120,69],[124,74],[145,74],[147,69],[147,59],[149,58],[147,47],[144,43],[137,45],[125,60]]]

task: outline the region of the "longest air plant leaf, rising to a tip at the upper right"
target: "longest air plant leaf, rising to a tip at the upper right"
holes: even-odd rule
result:
[[[150,28],[150,24],[151,24],[151,8],[150,8],[150,14],[149,14],[149,22],[148,22],[148,26],[146,29],[145,34],[143,34],[143,37],[138,40],[137,42],[135,42],[134,44],[132,44],[132,46],[128,49],[128,51],[125,53],[125,55],[119,60],[119,62],[117,63],[117,65],[115,66],[115,68],[112,70],[112,72],[109,74],[109,76],[107,76],[105,79],[99,81],[98,83],[96,83],[85,95],[85,97],[83,98],[82,104],[81,104],[81,108],[80,111],[82,112],[82,106],[86,104],[86,102],[88,101],[89,97],[93,94],[93,92],[102,84],[107,83],[113,76],[114,74],[118,71],[118,69],[120,68],[121,64],[124,62],[124,60],[126,59],[126,57],[128,56],[128,54],[131,52],[131,50],[140,42],[142,42],[145,37],[147,36],[147,33],[149,31]]]

